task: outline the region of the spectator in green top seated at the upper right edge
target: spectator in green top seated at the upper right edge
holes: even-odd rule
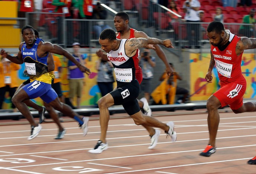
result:
[[[245,24],[255,24],[256,20],[254,18],[255,9],[251,9],[248,15],[243,17],[243,23]],[[254,33],[254,25],[241,25],[239,29],[239,35],[245,37],[252,37]]]

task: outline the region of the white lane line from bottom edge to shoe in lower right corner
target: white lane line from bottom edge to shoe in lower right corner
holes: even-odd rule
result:
[[[250,159],[250,158],[240,158],[240,159],[223,160],[223,161],[212,161],[212,162],[207,162],[207,163],[194,163],[194,164],[176,165],[176,166],[159,167],[159,168],[148,168],[148,169],[133,170],[133,171],[123,171],[123,172],[115,172],[115,173],[106,173],[106,174],[131,173],[131,172],[138,172],[138,171],[158,170],[158,169],[164,169],[164,168],[184,167],[184,166],[191,166],[191,165],[223,163],[223,162],[239,161],[239,160],[248,160],[248,159]]]

